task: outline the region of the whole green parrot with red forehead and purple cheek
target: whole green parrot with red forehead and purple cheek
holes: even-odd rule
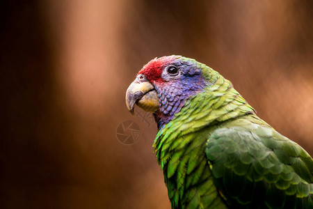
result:
[[[232,83],[184,56],[152,59],[126,91],[157,123],[171,208],[313,208],[313,160],[259,118]]]

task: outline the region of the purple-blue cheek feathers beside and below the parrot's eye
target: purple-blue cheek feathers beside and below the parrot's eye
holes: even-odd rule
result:
[[[208,82],[201,76],[201,70],[195,66],[184,66],[182,77],[169,82],[155,83],[159,97],[159,111],[156,113],[158,128],[175,117],[186,100],[202,91]]]

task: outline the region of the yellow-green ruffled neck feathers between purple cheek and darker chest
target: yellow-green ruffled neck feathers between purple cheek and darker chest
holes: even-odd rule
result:
[[[233,88],[230,81],[219,74],[212,76],[208,81],[210,85],[207,85],[202,92],[188,98],[171,121],[160,123],[153,146],[161,167],[166,161],[161,160],[160,148],[167,144],[168,139],[177,139],[203,127],[255,114],[255,110]]]

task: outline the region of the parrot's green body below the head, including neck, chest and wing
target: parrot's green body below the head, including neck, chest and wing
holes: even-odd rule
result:
[[[154,141],[172,208],[313,208],[313,161],[255,115],[232,84],[186,101]]]

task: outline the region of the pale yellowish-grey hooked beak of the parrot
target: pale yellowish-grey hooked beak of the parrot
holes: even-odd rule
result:
[[[135,103],[145,111],[155,112],[159,109],[157,91],[147,80],[132,82],[126,91],[127,109],[134,115]]]

